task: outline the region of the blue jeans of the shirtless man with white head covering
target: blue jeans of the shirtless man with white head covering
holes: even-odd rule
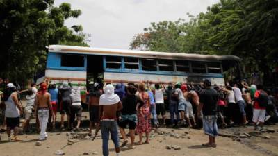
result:
[[[117,135],[117,121],[101,121],[101,138],[102,138],[102,153],[104,156],[109,155],[108,141],[109,132],[115,148],[119,148],[119,137]]]

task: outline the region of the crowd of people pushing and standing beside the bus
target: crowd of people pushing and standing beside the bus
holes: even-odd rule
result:
[[[65,115],[67,130],[79,130],[82,116],[81,84],[72,87],[68,80],[59,85],[47,80],[40,83],[38,89],[32,83],[28,90],[20,91],[13,83],[0,78],[1,129],[6,129],[9,141],[22,141],[18,137],[22,114],[25,119],[22,123],[24,132],[29,131],[32,114],[36,117],[41,141],[47,139],[47,128],[55,129],[58,111],[61,114],[60,130],[65,130]],[[25,107],[20,103],[19,95],[22,92],[27,92]],[[90,113],[89,135],[92,135],[93,128],[96,131],[101,129],[103,155],[108,155],[109,134],[117,155],[120,155],[120,146],[126,146],[129,142],[126,128],[129,128],[131,149],[136,148],[136,144],[149,144],[152,127],[167,125],[166,110],[170,112],[171,127],[204,128],[208,143],[203,146],[209,147],[216,147],[218,127],[252,124],[255,130],[263,130],[265,122],[278,121],[277,91],[272,94],[271,89],[265,90],[262,85],[249,86],[246,80],[225,86],[212,85],[209,78],[199,84],[144,82],[124,85],[92,82],[85,92]],[[119,129],[122,145],[118,137]],[[10,137],[12,130],[13,138]],[[137,142],[136,135],[139,137]],[[142,135],[145,135],[145,141]]]

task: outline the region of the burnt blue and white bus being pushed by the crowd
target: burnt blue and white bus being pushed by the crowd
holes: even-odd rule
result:
[[[58,85],[71,80],[72,87],[89,82],[113,83],[200,83],[211,78],[224,85],[224,71],[236,67],[240,58],[233,55],[198,55],[80,46],[50,45],[45,78]]]

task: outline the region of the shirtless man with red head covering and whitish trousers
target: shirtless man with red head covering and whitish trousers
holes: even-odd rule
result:
[[[35,113],[40,121],[40,141],[47,139],[47,123],[49,117],[49,110],[53,116],[53,110],[50,100],[50,94],[47,92],[47,83],[40,84],[40,91],[35,98]]]

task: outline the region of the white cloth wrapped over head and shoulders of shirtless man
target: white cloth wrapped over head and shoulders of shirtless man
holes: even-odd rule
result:
[[[119,96],[114,93],[113,85],[106,85],[104,94],[100,96],[99,105],[114,105],[120,101]]]

